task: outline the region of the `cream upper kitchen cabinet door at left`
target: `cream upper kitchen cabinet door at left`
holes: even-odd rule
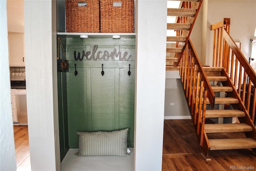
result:
[[[10,66],[25,66],[24,33],[8,33]]]

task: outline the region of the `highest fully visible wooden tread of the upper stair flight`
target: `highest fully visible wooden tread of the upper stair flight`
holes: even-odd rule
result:
[[[196,14],[193,8],[167,8],[167,16],[192,17]]]

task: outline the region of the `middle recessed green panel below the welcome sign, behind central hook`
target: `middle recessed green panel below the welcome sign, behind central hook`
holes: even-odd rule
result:
[[[92,131],[114,130],[115,73],[114,68],[91,68]]]

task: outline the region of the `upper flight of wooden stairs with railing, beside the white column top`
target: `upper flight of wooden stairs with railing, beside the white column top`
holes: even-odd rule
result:
[[[176,16],[177,22],[167,23],[167,30],[174,30],[177,34],[166,38],[166,54],[169,54],[166,55],[166,71],[179,70],[177,64],[188,42],[201,4],[202,0],[186,0],[181,2],[179,8],[167,9],[167,16]],[[173,47],[173,43],[170,42],[176,42],[176,46]]]

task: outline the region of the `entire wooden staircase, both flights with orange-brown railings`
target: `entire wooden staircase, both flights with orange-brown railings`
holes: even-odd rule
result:
[[[166,53],[173,53],[171,57],[166,56],[166,71],[180,70],[198,142],[206,160],[210,160],[211,150],[251,149],[256,153],[256,90],[250,90],[256,85],[256,73],[230,37],[227,18],[212,26],[213,67],[202,66],[189,39],[201,4],[202,0],[188,0],[181,2],[178,9],[168,9],[168,16],[177,16],[177,23],[167,24],[167,29],[176,30],[177,34],[166,38]],[[215,38],[216,35],[222,36]],[[176,42],[176,47],[168,42]],[[224,109],[224,105],[229,109]],[[235,123],[206,122],[214,118],[237,119]],[[244,138],[236,136],[241,132]],[[232,133],[234,138],[225,138],[225,133]]]

